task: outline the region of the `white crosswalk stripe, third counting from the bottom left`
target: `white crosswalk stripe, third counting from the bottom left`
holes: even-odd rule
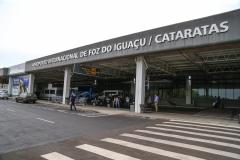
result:
[[[158,148],[155,148],[155,147],[150,147],[150,146],[145,146],[145,145],[141,145],[141,144],[131,143],[131,142],[127,142],[127,141],[123,141],[123,140],[119,140],[119,139],[105,138],[105,139],[102,139],[102,141],[113,143],[113,144],[118,144],[118,145],[121,145],[121,146],[129,147],[129,148],[133,148],[133,149],[137,149],[137,150],[141,150],[141,151],[145,151],[145,152],[158,154],[158,155],[161,155],[161,156],[180,159],[180,160],[187,160],[187,159],[204,160],[202,158],[198,158],[198,157],[194,157],[194,156],[190,156],[190,155],[185,155],[185,154],[181,154],[181,153],[166,151],[166,150],[163,150],[163,149],[158,149]]]

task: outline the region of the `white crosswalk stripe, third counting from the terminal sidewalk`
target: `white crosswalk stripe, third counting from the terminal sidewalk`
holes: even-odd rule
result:
[[[209,129],[200,129],[200,128],[194,128],[194,127],[183,127],[183,126],[174,126],[174,125],[167,125],[167,124],[156,124],[157,126],[163,126],[163,127],[171,127],[171,128],[180,128],[180,129],[191,129],[195,131],[204,131],[209,133],[220,133],[220,134],[228,134],[228,135],[234,135],[234,136],[240,136],[239,133],[230,133],[230,132],[223,132],[223,131],[213,131]]]

